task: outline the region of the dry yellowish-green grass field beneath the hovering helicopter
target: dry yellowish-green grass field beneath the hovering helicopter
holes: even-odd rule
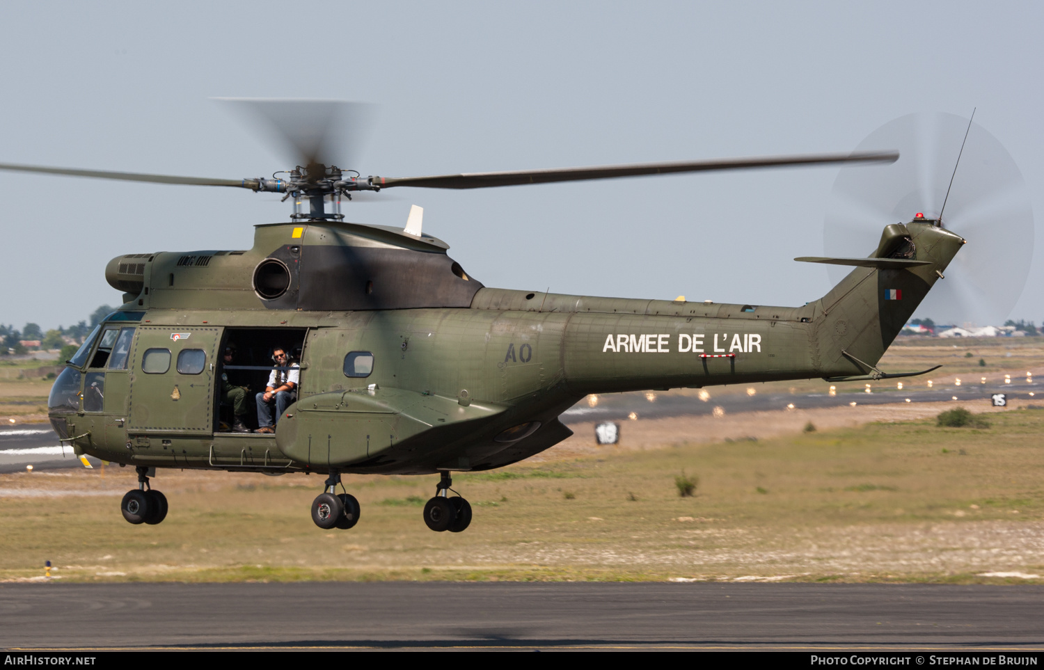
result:
[[[51,560],[66,580],[1044,581],[1044,411],[988,418],[696,444],[713,420],[692,417],[644,451],[455,475],[475,510],[459,534],[421,520],[433,476],[346,476],[361,520],[324,531],[314,476],[161,471],[167,520],[132,526],[130,469],[3,475],[0,579]]]

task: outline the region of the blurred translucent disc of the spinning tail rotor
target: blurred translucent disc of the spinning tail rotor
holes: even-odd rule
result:
[[[945,200],[943,226],[968,245],[917,313],[940,324],[1002,324],[1022,293],[1034,250],[1029,193],[1011,154],[982,126],[972,123],[969,129],[967,119],[952,114],[900,117],[856,151],[878,148],[898,149],[900,159],[876,170],[840,171],[824,222],[825,255],[865,255],[877,246],[883,225],[909,221],[919,212],[939,218]],[[833,283],[846,273],[839,267],[828,271]]]

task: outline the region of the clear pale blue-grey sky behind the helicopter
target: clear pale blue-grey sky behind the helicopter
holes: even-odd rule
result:
[[[351,167],[384,176],[849,151],[899,117],[975,109],[1041,202],[1040,3],[44,1],[4,15],[0,162],[227,178],[290,167],[223,96],[374,103]],[[118,304],[114,256],[247,248],[254,224],[290,212],[250,191],[0,175],[0,322],[17,327]],[[424,231],[487,286],[792,306],[831,285],[792,259],[823,254],[837,176],[394,189],[347,214],[401,226],[423,207]],[[997,219],[1013,237],[991,245],[1001,256],[1044,240]],[[892,222],[853,235],[848,255]],[[1040,324],[1034,250],[1025,290],[1005,258],[991,281],[1021,290],[1011,317]],[[953,320],[993,318],[970,304]]]

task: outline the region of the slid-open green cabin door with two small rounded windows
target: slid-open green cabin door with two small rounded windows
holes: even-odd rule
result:
[[[130,366],[128,431],[214,432],[220,328],[140,326]]]

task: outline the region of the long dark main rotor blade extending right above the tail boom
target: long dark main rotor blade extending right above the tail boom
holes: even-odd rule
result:
[[[895,163],[898,159],[899,153],[897,151],[860,151],[855,153],[813,153],[675,163],[632,163],[630,165],[600,165],[509,172],[465,172],[464,174],[442,174],[437,176],[374,177],[374,186],[379,186],[382,189],[392,188],[393,186],[414,186],[426,189],[483,189],[495,186],[578,182],[582,180],[611,180],[621,176],[711,170],[742,170],[787,165]]]

